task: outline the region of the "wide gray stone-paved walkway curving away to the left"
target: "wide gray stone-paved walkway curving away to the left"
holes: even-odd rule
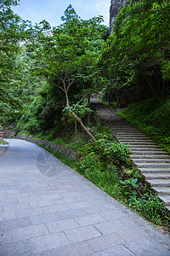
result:
[[[33,143],[0,157],[0,256],[169,256],[170,238]]]

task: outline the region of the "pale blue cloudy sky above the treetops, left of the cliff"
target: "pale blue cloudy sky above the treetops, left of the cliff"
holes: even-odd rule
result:
[[[109,26],[110,0],[20,0],[19,3],[13,7],[14,13],[33,24],[47,20],[51,26],[58,26],[65,9],[71,4],[82,20],[103,15],[104,24]]]

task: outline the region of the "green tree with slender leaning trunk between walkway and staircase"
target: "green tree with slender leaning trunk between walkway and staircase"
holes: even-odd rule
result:
[[[35,27],[33,40],[28,44],[28,48],[34,51],[34,70],[63,91],[67,109],[88,136],[95,140],[82,123],[82,119],[74,112],[74,108],[71,108],[69,94],[72,92],[74,96],[78,94],[80,97],[80,92],[85,88],[80,88],[77,84],[78,79],[85,75],[83,67],[86,69],[86,76],[94,73],[91,73],[92,70],[88,67],[94,65],[99,58],[99,49],[104,42],[101,35],[105,26],[100,25],[103,18],[99,16],[82,20],[69,6],[62,20],[65,23],[54,27],[53,30],[50,30],[46,20],[42,20],[40,26]],[[50,31],[50,36],[47,31]]]

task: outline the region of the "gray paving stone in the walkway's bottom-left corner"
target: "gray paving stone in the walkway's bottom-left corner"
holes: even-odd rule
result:
[[[17,241],[2,245],[1,256],[31,256],[32,250],[29,241]]]

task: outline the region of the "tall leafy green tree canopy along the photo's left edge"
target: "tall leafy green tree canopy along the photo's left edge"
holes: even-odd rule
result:
[[[0,123],[20,112],[21,63],[16,55],[25,38],[26,22],[11,9],[16,0],[0,3]]]

